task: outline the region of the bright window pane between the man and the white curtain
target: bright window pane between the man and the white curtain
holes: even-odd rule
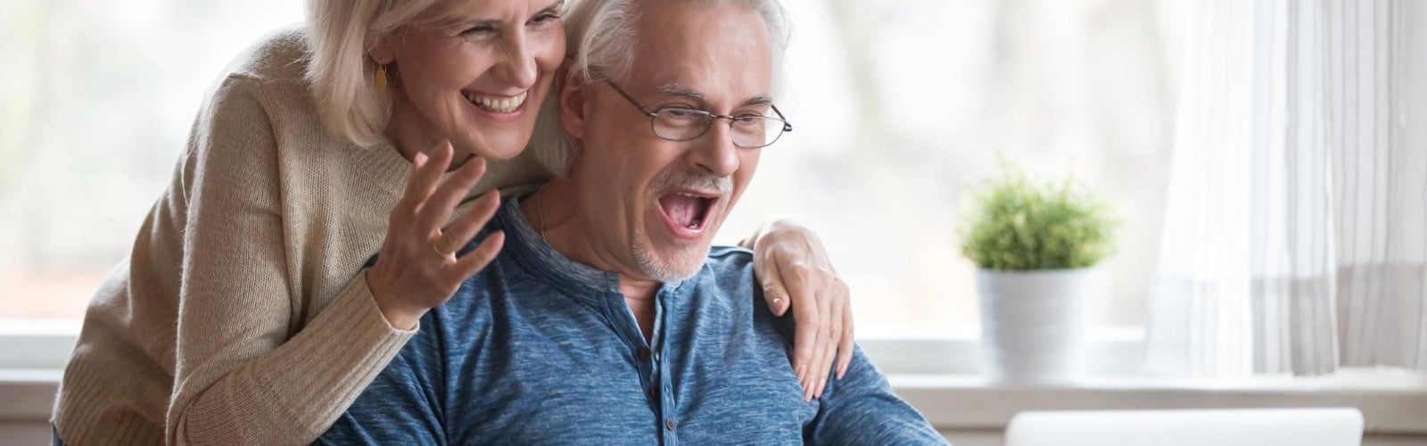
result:
[[[1103,323],[1143,324],[1169,172],[1180,1],[802,0],[798,130],[765,152],[739,227],[818,229],[860,333],[976,333],[956,224],[999,157],[1073,174],[1120,210]]]

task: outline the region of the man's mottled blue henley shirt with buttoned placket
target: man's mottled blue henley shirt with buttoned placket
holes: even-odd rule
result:
[[[421,319],[318,443],[945,445],[860,349],[803,402],[792,317],[769,313],[748,250],[715,247],[664,284],[645,343],[618,274],[552,250],[517,200],[477,240],[495,229],[495,262]]]

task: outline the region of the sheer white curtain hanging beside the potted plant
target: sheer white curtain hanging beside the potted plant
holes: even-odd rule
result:
[[[1427,1],[1206,0],[1150,370],[1427,369]]]

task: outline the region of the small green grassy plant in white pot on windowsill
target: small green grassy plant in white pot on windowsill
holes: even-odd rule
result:
[[[1099,302],[1095,266],[1112,252],[1110,207],[1066,179],[1006,169],[973,192],[962,254],[977,266],[982,362],[989,380],[1073,383]]]

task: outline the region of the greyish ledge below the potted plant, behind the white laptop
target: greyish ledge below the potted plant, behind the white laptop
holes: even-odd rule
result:
[[[1002,430],[1022,410],[1341,406],[1361,410],[1368,433],[1427,435],[1427,377],[1411,373],[1213,383],[1097,377],[1073,386],[997,386],[975,375],[890,375],[888,380],[940,430]]]

